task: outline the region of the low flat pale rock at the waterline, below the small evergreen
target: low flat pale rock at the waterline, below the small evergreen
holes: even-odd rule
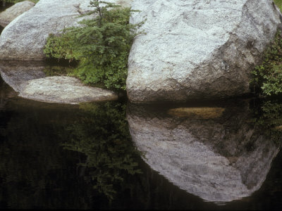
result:
[[[25,84],[20,96],[47,103],[80,103],[112,101],[118,96],[113,91],[86,87],[79,79],[66,76],[34,79]]]

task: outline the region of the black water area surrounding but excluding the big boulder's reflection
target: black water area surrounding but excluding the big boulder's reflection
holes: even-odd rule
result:
[[[0,79],[1,209],[282,207],[281,153],[259,191],[225,205],[204,202],[142,160],[131,141],[125,107],[124,101],[82,106],[29,101]]]

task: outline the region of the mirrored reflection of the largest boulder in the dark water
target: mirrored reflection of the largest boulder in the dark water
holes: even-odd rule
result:
[[[247,123],[247,106],[226,107],[214,119],[189,119],[129,105],[127,118],[133,141],[152,169],[204,200],[228,202],[257,191],[279,151]]]

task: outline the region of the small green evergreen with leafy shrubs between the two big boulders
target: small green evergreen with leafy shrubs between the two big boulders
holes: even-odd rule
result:
[[[129,23],[133,10],[105,1],[90,1],[96,18],[82,20],[83,27],[71,27],[63,34],[50,34],[44,53],[47,58],[78,60],[78,67],[68,75],[85,84],[125,90],[128,56],[137,25]],[[101,6],[103,4],[103,6]]]

